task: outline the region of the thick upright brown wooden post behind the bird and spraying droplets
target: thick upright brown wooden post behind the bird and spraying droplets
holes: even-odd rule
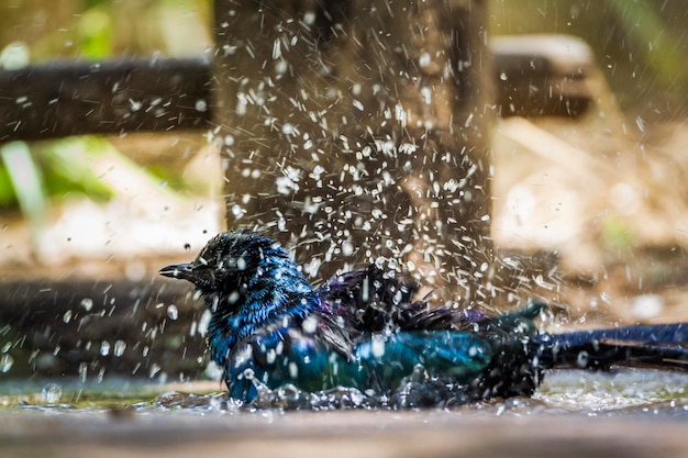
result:
[[[312,277],[378,261],[484,302],[486,3],[217,0],[229,227],[296,247]]]

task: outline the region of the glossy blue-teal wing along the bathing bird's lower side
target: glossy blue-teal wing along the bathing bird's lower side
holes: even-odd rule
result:
[[[299,327],[280,327],[242,342],[230,357],[230,395],[253,400],[257,387],[287,383],[304,391],[349,387],[393,392],[419,367],[431,378],[468,383],[490,364],[493,349],[466,332],[401,332],[359,344],[352,359]]]

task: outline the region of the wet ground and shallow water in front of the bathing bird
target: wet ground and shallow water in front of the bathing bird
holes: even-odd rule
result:
[[[119,387],[119,389],[118,389]],[[550,373],[532,399],[450,410],[241,410],[215,382],[0,387],[0,456],[683,457],[688,373]],[[160,395],[166,389],[168,391]],[[182,391],[210,394],[184,394]],[[156,394],[157,393],[157,394]],[[141,400],[142,395],[149,395]]]

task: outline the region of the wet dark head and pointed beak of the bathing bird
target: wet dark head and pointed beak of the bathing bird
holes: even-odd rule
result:
[[[191,262],[165,266],[159,273],[188,280],[203,295],[242,293],[275,262],[293,262],[273,239],[248,231],[214,236]]]

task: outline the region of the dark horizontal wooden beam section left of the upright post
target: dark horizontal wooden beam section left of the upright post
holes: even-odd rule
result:
[[[0,71],[0,142],[206,129],[209,93],[202,58],[60,60]]]

